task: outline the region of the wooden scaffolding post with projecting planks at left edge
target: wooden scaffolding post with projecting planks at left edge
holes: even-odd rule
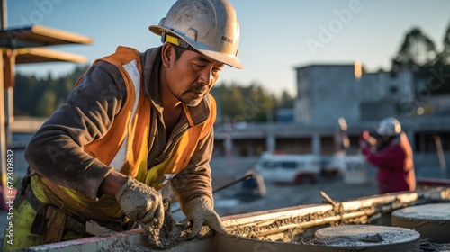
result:
[[[8,160],[11,146],[11,124],[14,121],[14,72],[15,65],[44,62],[85,63],[84,56],[46,49],[45,47],[67,44],[92,44],[84,35],[32,24],[26,27],[7,29],[6,1],[0,4],[0,166],[1,185],[8,185]],[[8,160],[8,162],[7,162]],[[13,164],[13,165],[9,165]],[[9,181],[9,184],[12,184]],[[3,190],[4,199],[8,190]]]

